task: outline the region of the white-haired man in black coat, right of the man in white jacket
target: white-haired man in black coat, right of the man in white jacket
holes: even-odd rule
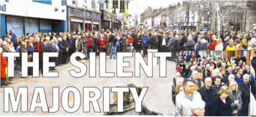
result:
[[[217,97],[217,92],[211,87],[212,81],[208,77],[205,80],[205,86],[197,90],[201,94],[203,101],[206,102],[205,116],[214,116],[214,111],[212,111],[212,106],[214,105],[214,99]]]

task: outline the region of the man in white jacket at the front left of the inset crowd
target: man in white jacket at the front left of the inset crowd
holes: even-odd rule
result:
[[[195,81],[187,78],[184,81],[184,91],[176,95],[176,116],[191,116],[190,106],[193,102],[203,101],[199,92],[195,91]]]

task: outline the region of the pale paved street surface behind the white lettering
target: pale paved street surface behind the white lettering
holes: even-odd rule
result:
[[[108,58],[108,57],[107,57]],[[126,71],[134,71],[134,58],[125,58],[124,61],[130,62],[129,68],[124,68]],[[82,60],[87,66],[89,66],[88,60]],[[115,72],[116,71],[116,60],[107,59],[107,71]],[[15,88],[15,92],[18,90],[18,86],[28,86],[29,90],[29,105],[31,103],[32,92],[34,92],[35,86],[44,86],[45,94],[48,101],[48,107],[52,106],[52,87],[59,86],[60,93],[67,86],[75,86],[80,92],[83,91],[83,86],[95,86],[102,90],[103,86],[115,86],[116,84],[136,84],[138,86],[148,86],[148,92],[146,97],[143,99],[144,104],[150,109],[156,112],[162,113],[164,115],[170,115],[175,112],[175,106],[173,105],[171,98],[171,86],[173,84],[173,77],[175,76],[175,62],[167,61],[167,78],[159,78],[159,65],[154,65],[154,78],[147,78],[146,74],[141,72],[140,78],[98,78],[99,76],[99,58],[97,58],[97,78],[89,78],[89,70],[86,73],[86,76],[83,78],[72,78],[69,75],[68,71],[75,68],[71,64],[61,65],[57,68],[59,71],[59,78],[15,78],[12,81],[10,86]],[[89,68],[89,67],[88,67]],[[141,69],[142,70],[142,69]],[[143,71],[143,70],[142,70]],[[1,104],[3,104],[3,88],[0,89],[1,94]],[[112,96],[111,96],[112,97]],[[69,98],[69,102],[72,105],[73,98]],[[112,102],[113,100],[111,100]],[[102,97],[99,99],[99,107],[102,110]],[[103,113],[83,113],[83,105],[80,106],[80,109],[75,113],[67,113],[63,108],[60,109],[57,113],[42,113],[41,108],[37,108],[35,113],[20,113],[20,108],[18,113],[3,113],[3,105],[0,105],[1,114],[4,115],[102,115]],[[93,108],[91,107],[91,110]]]

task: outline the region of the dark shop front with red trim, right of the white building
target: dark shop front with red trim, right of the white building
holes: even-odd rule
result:
[[[99,12],[92,12],[67,6],[67,31],[99,31]]]

